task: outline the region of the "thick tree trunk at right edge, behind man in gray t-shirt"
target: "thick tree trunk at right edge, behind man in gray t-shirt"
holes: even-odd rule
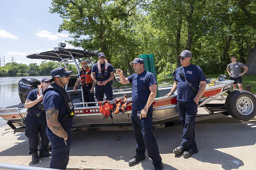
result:
[[[249,68],[247,71],[250,75],[256,75],[256,44],[254,48],[248,50],[246,66]]]

